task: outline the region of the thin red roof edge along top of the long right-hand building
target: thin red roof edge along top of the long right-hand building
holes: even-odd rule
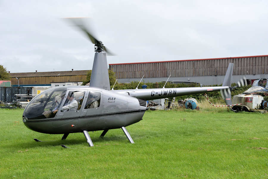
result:
[[[224,57],[224,58],[203,58],[203,59],[191,59],[191,60],[172,60],[172,61],[149,61],[149,62],[138,62],[138,63],[118,63],[118,64],[109,64],[109,65],[124,65],[124,64],[147,64],[147,63],[165,63],[165,62],[176,62],[176,61],[219,60],[219,59],[252,58],[252,57],[268,57],[268,55],[255,55],[255,56],[242,56],[242,57]]]

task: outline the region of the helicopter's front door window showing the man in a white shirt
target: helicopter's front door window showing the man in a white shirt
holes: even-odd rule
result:
[[[82,106],[85,91],[69,91],[61,112],[79,110]]]

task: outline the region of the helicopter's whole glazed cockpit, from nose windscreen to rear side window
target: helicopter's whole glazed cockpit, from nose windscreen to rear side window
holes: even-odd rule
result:
[[[70,113],[80,109],[98,108],[100,94],[91,90],[68,90],[67,87],[54,87],[33,98],[24,111],[24,117],[30,120],[46,119],[54,118],[58,111]]]

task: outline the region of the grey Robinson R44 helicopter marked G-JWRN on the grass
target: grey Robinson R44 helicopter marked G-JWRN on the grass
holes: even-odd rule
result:
[[[126,126],[142,120],[146,100],[221,91],[226,104],[231,105],[229,87],[232,63],[228,66],[221,87],[110,90],[106,55],[112,53],[91,35],[82,23],[83,19],[68,20],[95,44],[90,86],[53,87],[37,95],[29,102],[22,116],[24,125],[29,129],[46,134],[63,134],[62,140],[70,133],[83,132],[89,146],[94,146],[88,131],[103,130],[100,137],[104,137],[108,130],[121,128],[130,143],[134,143]]]

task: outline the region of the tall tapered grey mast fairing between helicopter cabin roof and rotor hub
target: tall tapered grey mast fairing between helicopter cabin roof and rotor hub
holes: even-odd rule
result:
[[[90,77],[90,87],[110,90],[106,53],[95,53]]]

